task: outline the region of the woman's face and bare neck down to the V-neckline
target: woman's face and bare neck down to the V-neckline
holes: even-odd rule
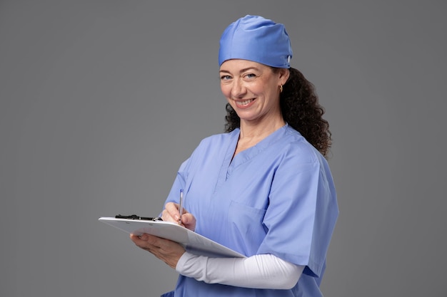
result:
[[[273,71],[261,63],[231,59],[222,63],[220,73],[221,91],[240,118],[236,155],[286,124],[279,108],[279,94],[288,70]],[[246,131],[250,133],[246,135]]]

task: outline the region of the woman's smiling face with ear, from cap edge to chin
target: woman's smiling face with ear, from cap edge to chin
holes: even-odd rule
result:
[[[241,124],[282,121],[279,88],[287,81],[287,69],[273,72],[261,63],[233,59],[222,63],[219,74],[221,91],[241,118]]]

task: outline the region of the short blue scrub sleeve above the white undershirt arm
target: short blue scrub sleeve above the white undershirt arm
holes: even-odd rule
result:
[[[302,155],[310,155],[303,159]],[[276,170],[263,224],[259,254],[274,254],[321,276],[338,216],[336,193],[326,160],[311,150],[289,150]]]

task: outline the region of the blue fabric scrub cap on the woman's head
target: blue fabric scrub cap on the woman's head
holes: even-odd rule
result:
[[[219,66],[229,59],[243,59],[290,68],[291,58],[291,43],[284,25],[262,16],[244,16],[222,33]]]

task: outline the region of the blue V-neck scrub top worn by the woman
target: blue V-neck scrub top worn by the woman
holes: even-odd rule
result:
[[[326,159],[285,125],[233,160],[239,129],[201,141],[180,167],[166,202],[179,201],[196,232],[246,256],[273,254],[306,268],[291,290],[209,284],[179,276],[175,295],[322,296],[319,290],[338,206]]]

